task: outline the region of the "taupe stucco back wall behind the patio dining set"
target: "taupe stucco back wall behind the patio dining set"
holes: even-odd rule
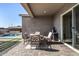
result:
[[[42,35],[48,35],[52,31],[52,17],[22,17],[22,33],[34,33],[39,31]]]

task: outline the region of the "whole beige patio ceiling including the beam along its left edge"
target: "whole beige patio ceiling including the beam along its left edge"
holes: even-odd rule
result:
[[[52,16],[67,3],[22,3],[28,14],[34,16]]]

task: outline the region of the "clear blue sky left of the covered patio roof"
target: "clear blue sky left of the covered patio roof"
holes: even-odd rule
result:
[[[0,27],[22,26],[22,17],[28,14],[19,3],[0,3]]]

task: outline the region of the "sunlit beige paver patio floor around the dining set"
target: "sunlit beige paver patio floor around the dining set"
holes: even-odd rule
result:
[[[79,56],[64,44],[52,44],[52,51],[25,49],[23,42],[10,49],[3,56]]]

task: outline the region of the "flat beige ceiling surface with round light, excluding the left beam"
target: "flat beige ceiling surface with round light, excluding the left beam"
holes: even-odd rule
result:
[[[29,4],[35,16],[51,16],[62,8],[64,4],[61,3],[39,3]]]

